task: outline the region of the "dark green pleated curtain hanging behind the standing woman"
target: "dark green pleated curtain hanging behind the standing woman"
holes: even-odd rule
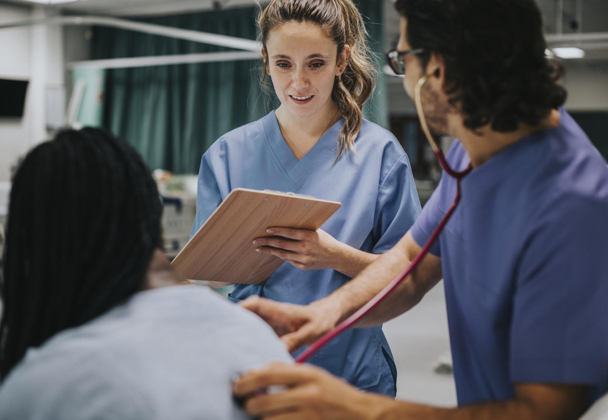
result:
[[[382,2],[356,2],[381,53]],[[256,7],[247,7],[138,20],[255,40],[256,15]],[[96,59],[218,51],[230,49],[103,27],[95,28],[92,45]],[[103,125],[134,145],[151,169],[196,173],[202,154],[219,136],[277,107],[277,100],[261,91],[258,66],[247,60],[108,70]],[[387,127],[385,89],[381,79],[364,111]]]

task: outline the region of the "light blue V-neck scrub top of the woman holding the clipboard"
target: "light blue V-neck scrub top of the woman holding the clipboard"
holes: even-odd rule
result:
[[[420,212],[407,155],[389,131],[364,121],[356,153],[343,153],[334,164],[343,126],[341,119],[300,161],[283,139],[274,111],[219,138],[202,156],[192,233],[232,189],[271,189],[340,201],[324,231],[368,253],[392,248]],[[338,271],[300,270],[285,263],[263,285],[237,284],[229,298],[259,295],[309,304],[348,280]],[[359,388],[395,396],[396,369],[381,326],[344,332],[309,362]]]

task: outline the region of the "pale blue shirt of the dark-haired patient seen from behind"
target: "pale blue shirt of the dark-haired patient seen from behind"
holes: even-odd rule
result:
[[[147,290],[30,349],[0,419],[244,420],[232,380],[273,360],[292,363],[274,331],[207,287]]]

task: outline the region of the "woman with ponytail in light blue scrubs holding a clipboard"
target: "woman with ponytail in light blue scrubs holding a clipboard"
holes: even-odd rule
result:
[[[401,145],[362,119],[376,72],[352,0],[273,0],[258,25],[262,82],[272,79],[281,106],[222,136],[202,156],[192,233],[237,187],[340,201],[316,232],[274,228],[274,237],[257,239],[258,252],[287,264],[263,285],[237,284],[229,296],[309,304],[392,248],[415,221],[420,201]],[[395,396],[395,363],[381,327],[350,329],[309,362],[366,391]]]

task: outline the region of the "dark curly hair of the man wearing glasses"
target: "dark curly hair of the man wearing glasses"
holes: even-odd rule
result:
[[[563,68],[545,55],[542,16],[534,0],[397,0],[407,40],[443,57],[446,94],[476,130],[536,125],[564,104]]]

